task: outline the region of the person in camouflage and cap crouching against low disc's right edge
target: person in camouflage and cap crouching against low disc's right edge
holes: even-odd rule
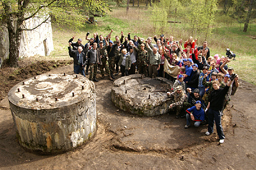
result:
[[[178,119],[180,116],[180,112],[183,109],[183,103],[186,99],[186,94],[184,93],[182,86],[177,86],[175,91],[173,91],[172,93],[167,92],[167,95],[169,98],[173,98],[173,103],[170,104],[169,108],[176,111],[175,118]]]

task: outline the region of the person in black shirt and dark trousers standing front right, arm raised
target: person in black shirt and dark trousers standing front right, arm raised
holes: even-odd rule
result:
[[[208,131],[205,132],[206,135],[213,133],[214,121],[216,124],[216,129],[218,136],[220,137],[220,143],[224,143],[225,135],[223,133],[223,128],[221,126],[221,109],[223,108],[225,96],[227,95],[228,89],[232,81],[236,78],[236,75],[230,77],[230,81],[224,88],[220,88],[219,81],[212,81],[212,87],[214,91],[211,92],[209,97],[209,103],[205,112],[208,111]]]

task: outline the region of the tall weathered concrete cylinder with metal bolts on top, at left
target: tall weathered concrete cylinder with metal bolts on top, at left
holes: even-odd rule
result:
[[[20,82],[8,93],[19,143],[46,153],[83,144],[96,129],[95,98],[93,82],[82,75],[45,74]]]

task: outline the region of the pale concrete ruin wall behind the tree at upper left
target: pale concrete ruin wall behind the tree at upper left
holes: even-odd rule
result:
[[[38,26],[44,19],[29,19],[24,27],[31,29]],[[4,59],[9,56],[9,36],[6,27],[0,27],[0,68]],[[33,31],[23,31],[20,40],[20,58],[27,56],[49,56],[53,49],[51,22],[42,24]]]

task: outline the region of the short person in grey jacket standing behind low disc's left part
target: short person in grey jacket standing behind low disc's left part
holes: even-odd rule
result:
[[[129,54],[127,54],[127,50],[126,49],[122,49],[122,54],[119,54],[120,59],[118,61],[118,65],[121,68],[121,72],[122,72],[122,77],[124,77],[124,75],[129,75],[128,74],[128,70],[131,68],[131,56]]]

